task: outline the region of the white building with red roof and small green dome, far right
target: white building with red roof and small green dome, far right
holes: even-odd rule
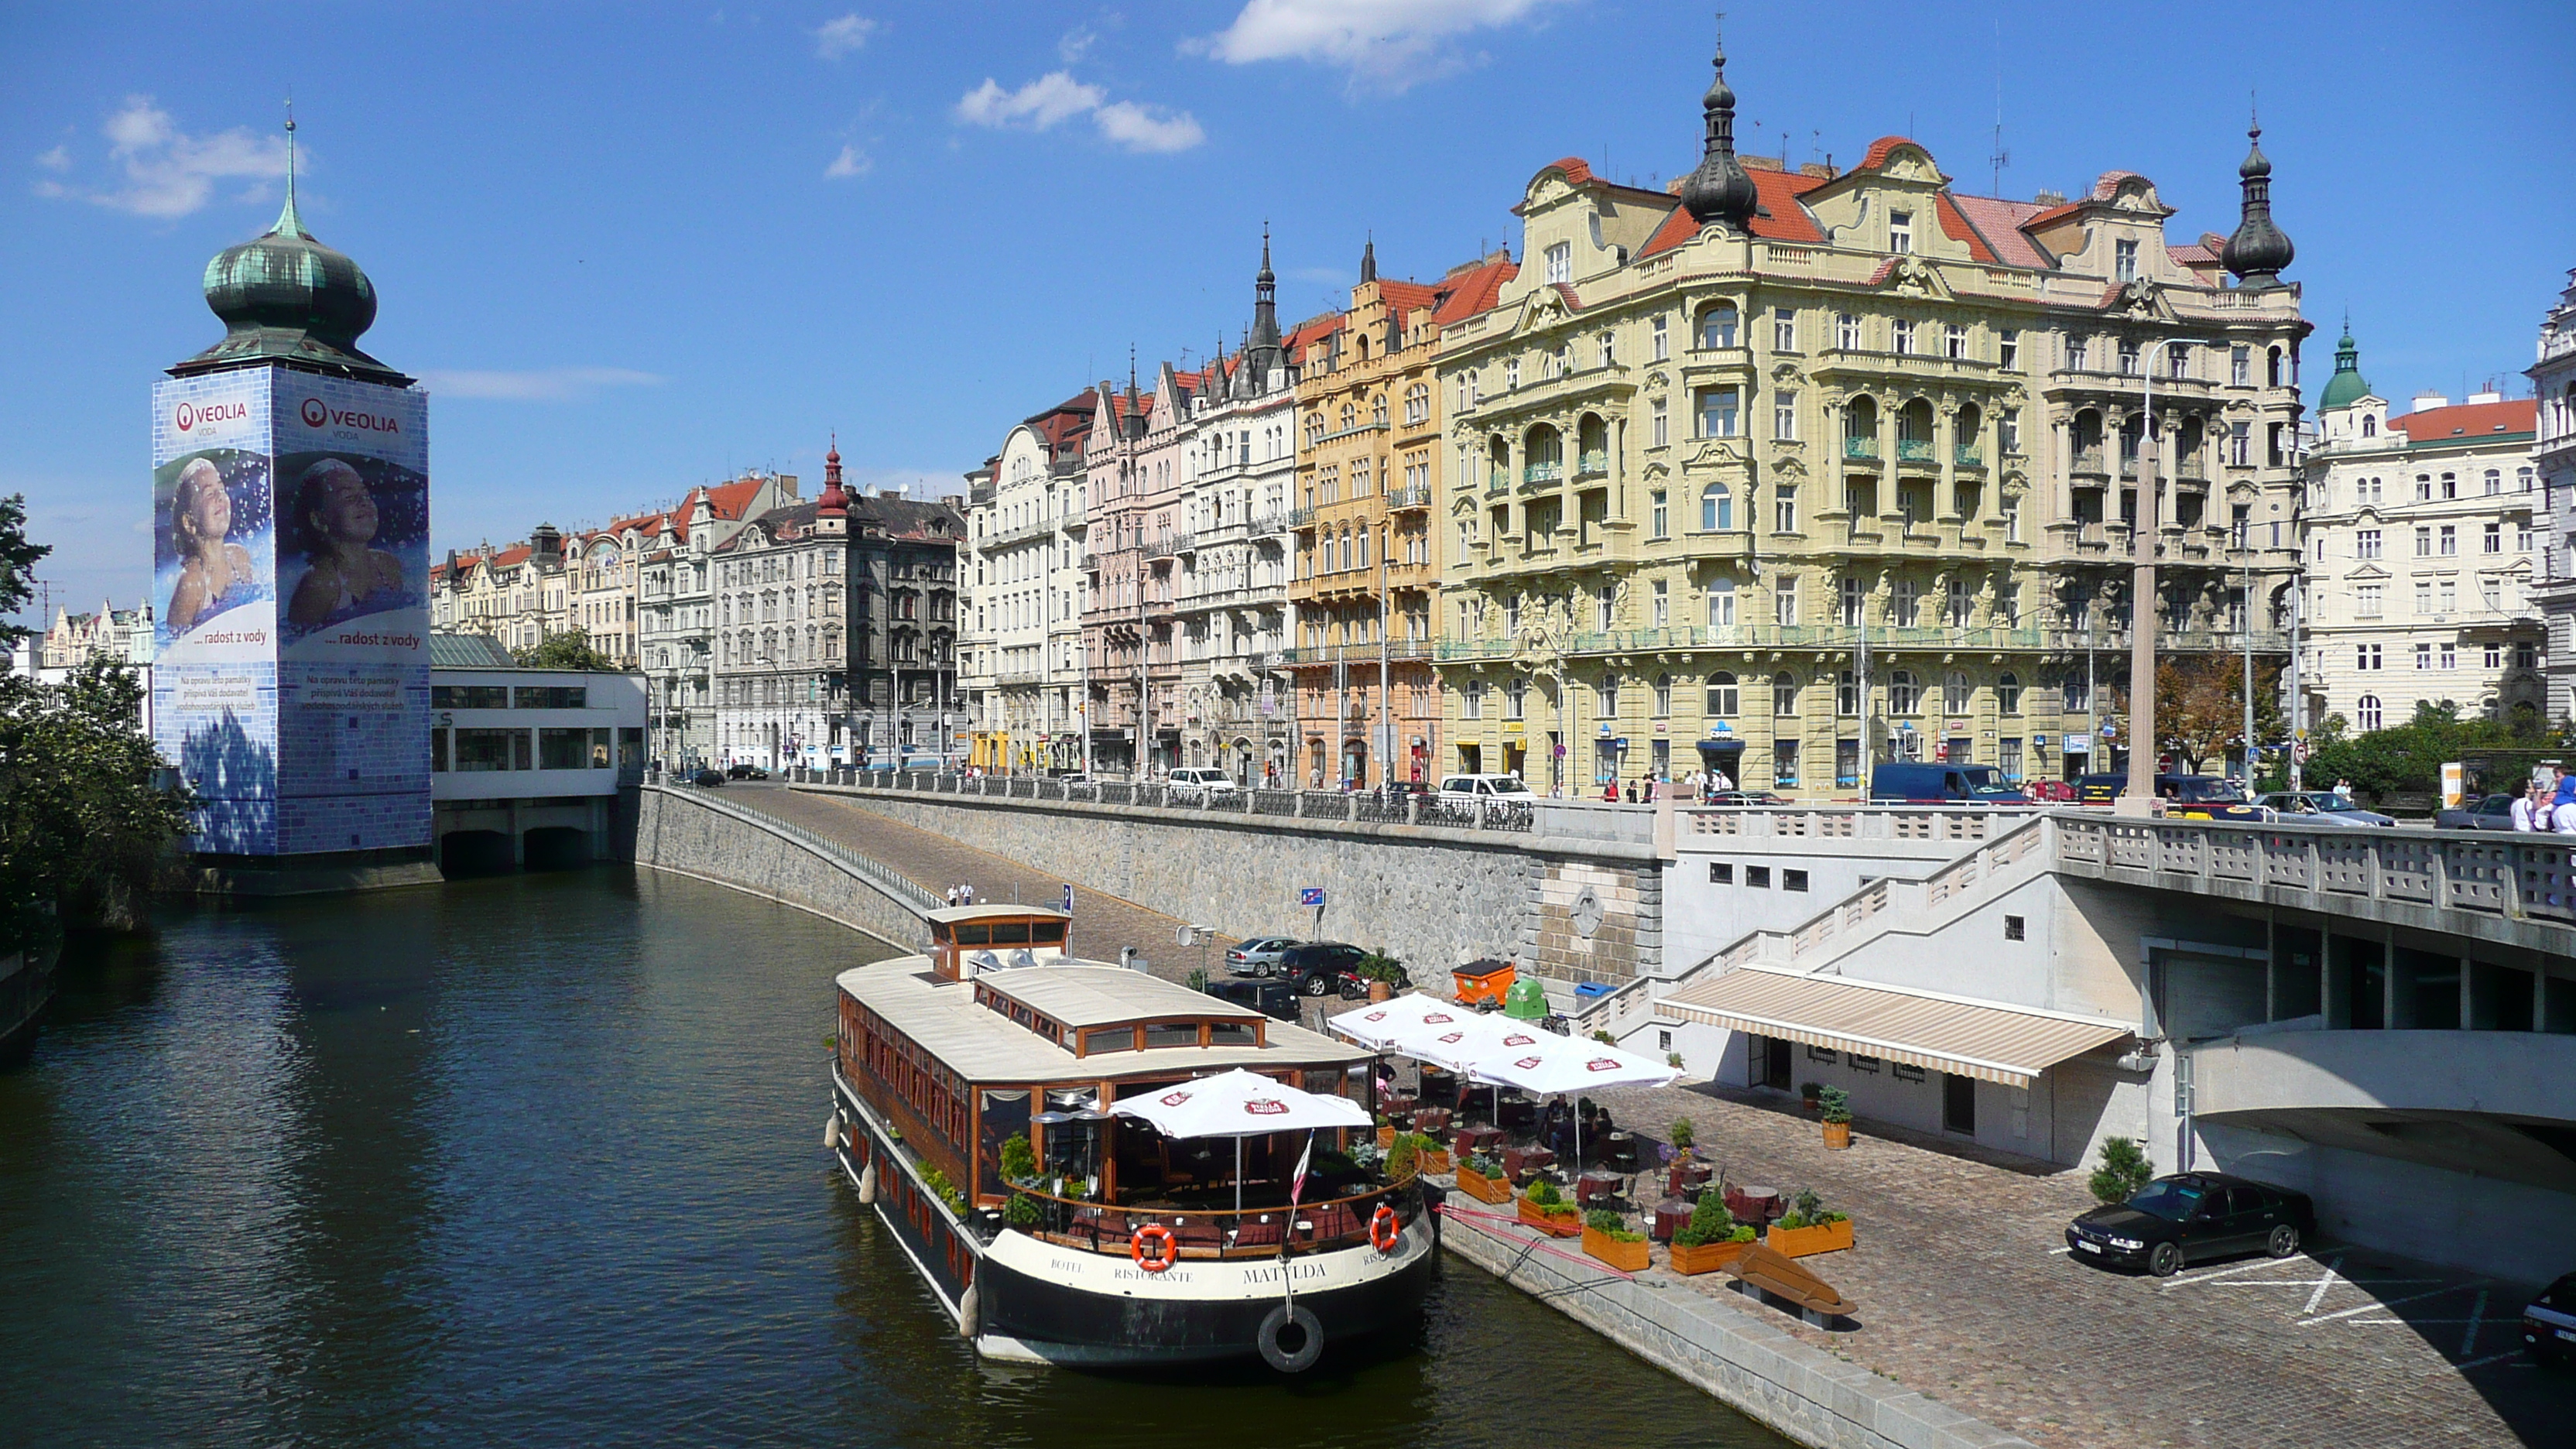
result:
[[[2352,730],[2385,730],[2414,719],[2416,704],[2537,722],[2545,511],[2532,402],[2421,394],[2391,418],[2347,333],[2306,482],[2300,722],[2342,714]]]

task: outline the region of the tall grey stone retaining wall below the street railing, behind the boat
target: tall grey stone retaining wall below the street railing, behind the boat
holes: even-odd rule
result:
[[[1056,799],[796,786],[1229,936],[1388,951],[1422,985],[1479,957],[1620,982],[1662,959],[1654,846]],[[1298,908],[1324,890],[1324,913]],[[1079,902],[1077,902],[1079,915]]]

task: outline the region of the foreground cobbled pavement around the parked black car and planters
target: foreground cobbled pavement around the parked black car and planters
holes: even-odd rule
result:
[[[1595,1096],[1654,1137],[1690,1116],[1731,1183],[1811,1186],[1850,1212],[1855,1248],[1803,1263],[1860,1305],[1860,1328],[1777,1320],[2035,1444],[2576,1444],[2576,1374],[2519,1354],[2535,1284],[2331,1243],[2128,1276],[2066,1256],[2066,1220],[2092,1207],[2081,1171],[2030,1173],[1865,1122],[1829,1152],[1770,1093]],[[1726,1274],[1667,1281],[1734,1297]]]

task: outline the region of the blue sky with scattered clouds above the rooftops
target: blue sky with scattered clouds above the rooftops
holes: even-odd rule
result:
[[[2249,88],[2321,340],[2378,392],[2522,387],[2576,266],[2548,75],[2576,8],[1739,5],[1744,150],[1880,134],[2007,196],[2151,175],[2236,219]],[[742,467],[948,490],[1012,420],[1515,237],[1533,170],[1687,170],[1708,10],[1221,5],[41,5],[0,10],[0,492],[75,608],[147,575],[147,402],[198,276],[278,206],[374,276],[366,348],[433,387],[435,547],[595,523]]]

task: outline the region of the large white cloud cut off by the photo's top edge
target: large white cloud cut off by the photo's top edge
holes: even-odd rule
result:
[[[1404,90],[1453,70],[1443,41],[1510,26],[1556,0],[1247,0],[1224,31],[1190,41],[1226,64],[1314,59],[1352,83]]]

